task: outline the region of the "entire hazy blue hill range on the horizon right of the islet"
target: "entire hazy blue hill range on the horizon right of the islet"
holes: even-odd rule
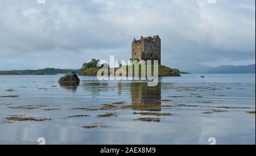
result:
[[[207,66],[193,62],[187,62],[186,64],[174,63],[171,64],[173,68],[178,68],[181,71],[189,73],[202,73],[202,74],[255,74],[255,64],[245,66],[234,65],[222,65],[222,66]]]

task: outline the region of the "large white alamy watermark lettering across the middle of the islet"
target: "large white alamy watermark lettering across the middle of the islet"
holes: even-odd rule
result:
[[[97,64],[101,68],[97,72],[98,80],[142,80],[148,81],[148,86],[158,85],[158,60],[124,60],[115,61],[110,56],[110,62],[100,60]]]

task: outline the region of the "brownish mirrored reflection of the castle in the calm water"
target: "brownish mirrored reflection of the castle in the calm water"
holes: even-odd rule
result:
[[[134,110],[161,111],[161,83],[155,87],[146,82],[131,83],[131,100]]]

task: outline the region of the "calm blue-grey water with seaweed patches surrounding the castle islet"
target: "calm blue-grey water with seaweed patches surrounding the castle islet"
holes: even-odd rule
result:
[[[0,144],[255,144],[255,74],[166,77],[156,87],[94,77],[65,87],[61,76],[0,76]]]

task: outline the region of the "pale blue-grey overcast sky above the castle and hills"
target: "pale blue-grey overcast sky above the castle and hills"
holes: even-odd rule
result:
[[[164,65],[255,64],[255,1],[1,0],[0,70],[129,60],[134,37],[156,34]]]

